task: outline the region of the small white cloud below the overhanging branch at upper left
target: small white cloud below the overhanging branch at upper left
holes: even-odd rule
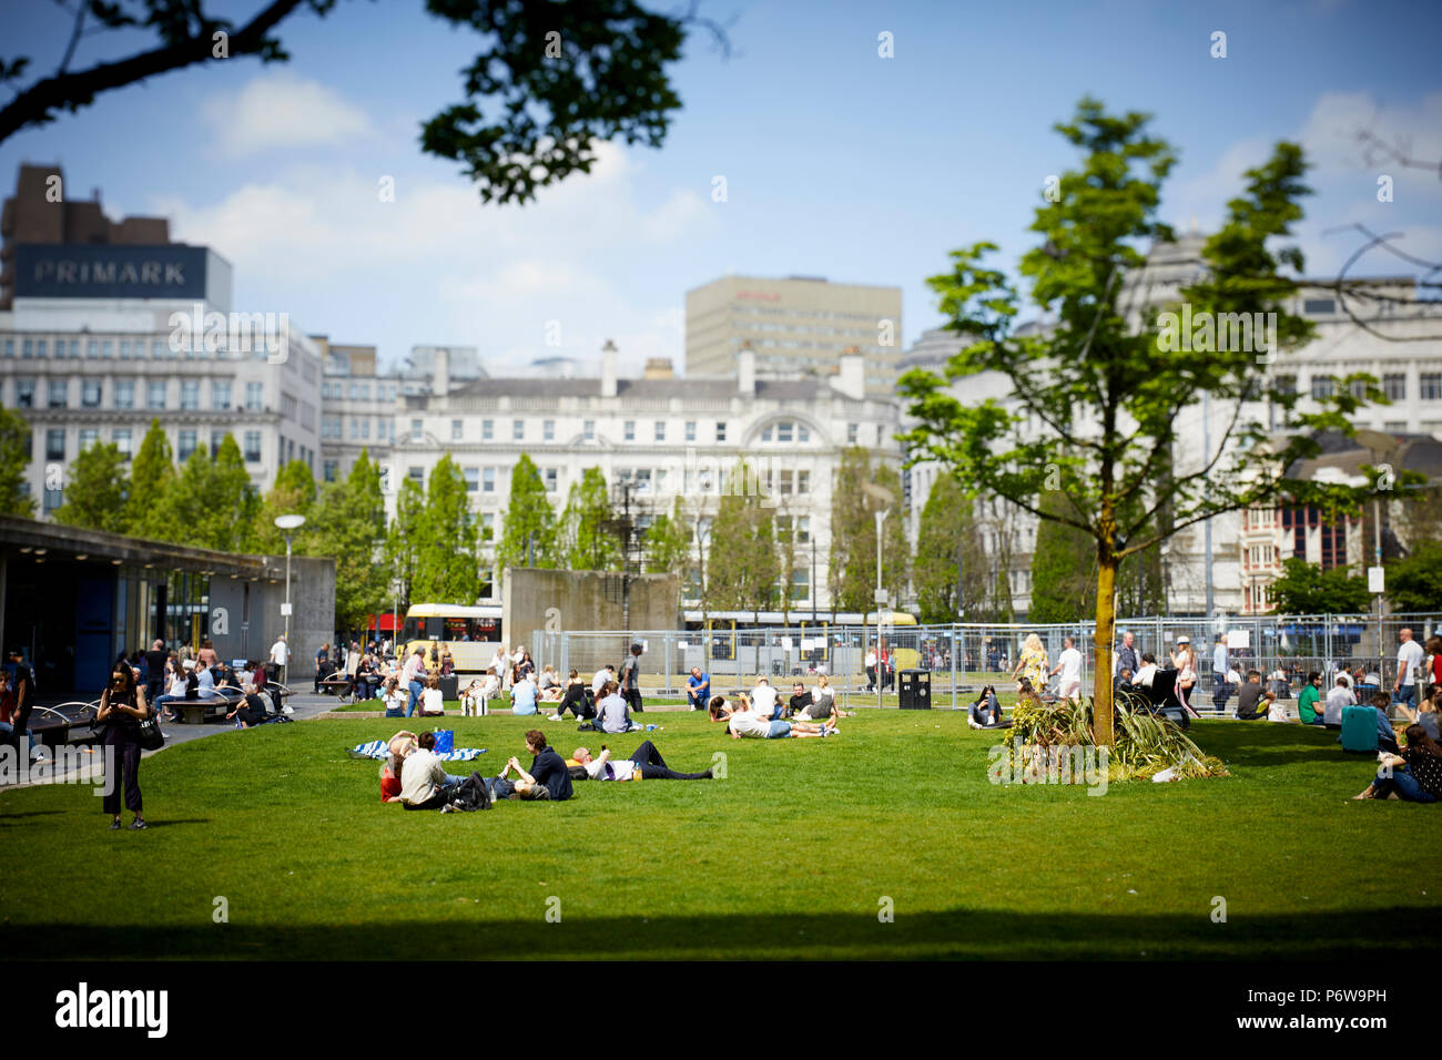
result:
[[[296,147],[326,147],[371,137],[365,111],[316,81],[288,71],[251,78],[238,92],[200,104],[205,123],[219,131],[228,157]]]

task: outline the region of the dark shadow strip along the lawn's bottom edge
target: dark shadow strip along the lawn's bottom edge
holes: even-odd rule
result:
[[[376,911],[372,923],[262,926],[172,923],[150,927],[4,924],[6,959],[53,953],[63,959],[264,958],[373,960],[538,958],[959,958],[959,959],[1357,959],[1396,953],[1380,923],[1409,923],[1409,937],[1442,929],[1442,910],[1426,907],[1233,916],[1213,923],[1210,909],[1177,914],[1040,914],[1004,910],[895,913],[883,923],[867,913],[565,916],[547,923],[545,907],[528,920],[402,919]],[[1420,945],[1420,943],[1419,943]],[[1428,943],[1430,945],[1430,943]],[[1405,949],[1405,946],[1402,946]]]

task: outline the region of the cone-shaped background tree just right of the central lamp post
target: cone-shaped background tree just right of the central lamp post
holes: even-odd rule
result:
[[[976,538],[972,506],[955,476],[936,476],[921,508],[911,561],[921,622],[962,622],[982,610],[991,565]]]

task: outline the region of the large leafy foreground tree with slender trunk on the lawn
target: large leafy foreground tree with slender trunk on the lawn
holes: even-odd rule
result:
[[[946,379],[911,371],[900,384],[917,420],[906,438],[913,459],[939,460],[981,492],[1092,538],[1093,736],[1100,744],[1112,743],[1113,591],[1126,557],[1208,516],[1283,492],[1293,503],[1315,499],[1334,509],[1360,499],[1348,487],[1285,477],[1295,460],[1318,451],[1314,433],[1351,430],[1348,414],[1361,404],[1348,387],[1351,376],[1321,412],[1302,414],[1298,395],[1273,382],[1257,343],[1218,342],[1214,326],[1198,327],[1193,349],[1178,352],[1174,319],[1138,320],[1129,312],[1136,291],[1126,277],[1145,264],[1136,244],[1174,238],[1156,219],[1174,154],[1151,136],[1148,121],[1138,112],[1107,114],[1086,98],[1071,121],[1056,127],[1082,151],[1083,164],[1060,179],[1056,202],[1037,208],[1031,228],[1040,245],[1018,270],[1030,284],[1030,300],[1054,327],[1018,333],[1022,296],[1002,271],[983,264],[994,244],[953,251],[952,271],[930,283],[949,327],[979,337],[950,361]],[[1302,255],[1291,247],[1272,249],[1302,216],[1305,167],[1301,149],[1280,143],[1266,163],[1246,173],[1242,195],[1227,203],[1221,229],[1201,251],[1200,278],[1181,291],[1194,322],[1275,312],[1280,350],[1309,337],[1311,324],[1286,312],[1296,284],[1280,273],[1282,265],[1301,273]],[[963,404],[946,389],[947,381],[988,369],[1011,381],[1012,407]],[[1224,410],[1223,425],[1200,460],[1172,466],[1184,434],[1181,414],[1204,392]],[[1374,387],[1366,395],[1380,397]],[[1195,430],[1185,434],[1191,441]],[[1171,472],[1162,477],[1167,467]],[[1060,492],[1064,500],[1043,503],[1047,492]],[[1158,512],[1165,505],[1169,521],[1162,526]]]

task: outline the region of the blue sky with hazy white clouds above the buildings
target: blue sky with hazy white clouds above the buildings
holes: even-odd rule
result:
[[[232,17],[260,0],[219,4]],[[486,206],[418,147],[420,123],[460,95],[476,37],[420,0],[342,0],[284,23],[291,61],[234,59],[107,94],[0,146],[16,166],[59,162],[107,211],[163,213],[174,238],[235,264],[236,309],[288,312],[336,342],[398,361],[414,343],[480,348],[493,374],[544,355],[623,362],[684,346],[684,297],[725,273],[808,274],[903,290],[910,345],[940,323],[926,277],[989,238],[1011,262],[1048,175],[1076,164],[1051,124],[1086,92],[1155,114],[1181,164],[1164,216],[1203,228],[1279,138],[1315,162],[1299,229],[1308,273],[1358,245],[1330,228],[1405,232],[1442,260],[1436,172],[1366,164],[1358,128],[1442,162],[1442,4],[744,3],[705,0],[733,56],[704,36],[673,76],[685,104],[660,150],[609,149],[590,176],[531,206]],[[68,20],[50,0],[0,3],[0,55],[52,69]],[[564,26],[558,26],[564,33]],[[1227,35],[1227,58],[1210,55]],[[894,58],[878,56],[893,35]],[[84,65],[138,37],[89,37]],[[1376,200],[1381,173],[1394,200]],[[727,180],[714,202],[712,179]],[[382,177],[397,199],[382,203]],[[1397,271],[1366,260],[1364,271]],[[559,323],[562,348],[548,349]]]

